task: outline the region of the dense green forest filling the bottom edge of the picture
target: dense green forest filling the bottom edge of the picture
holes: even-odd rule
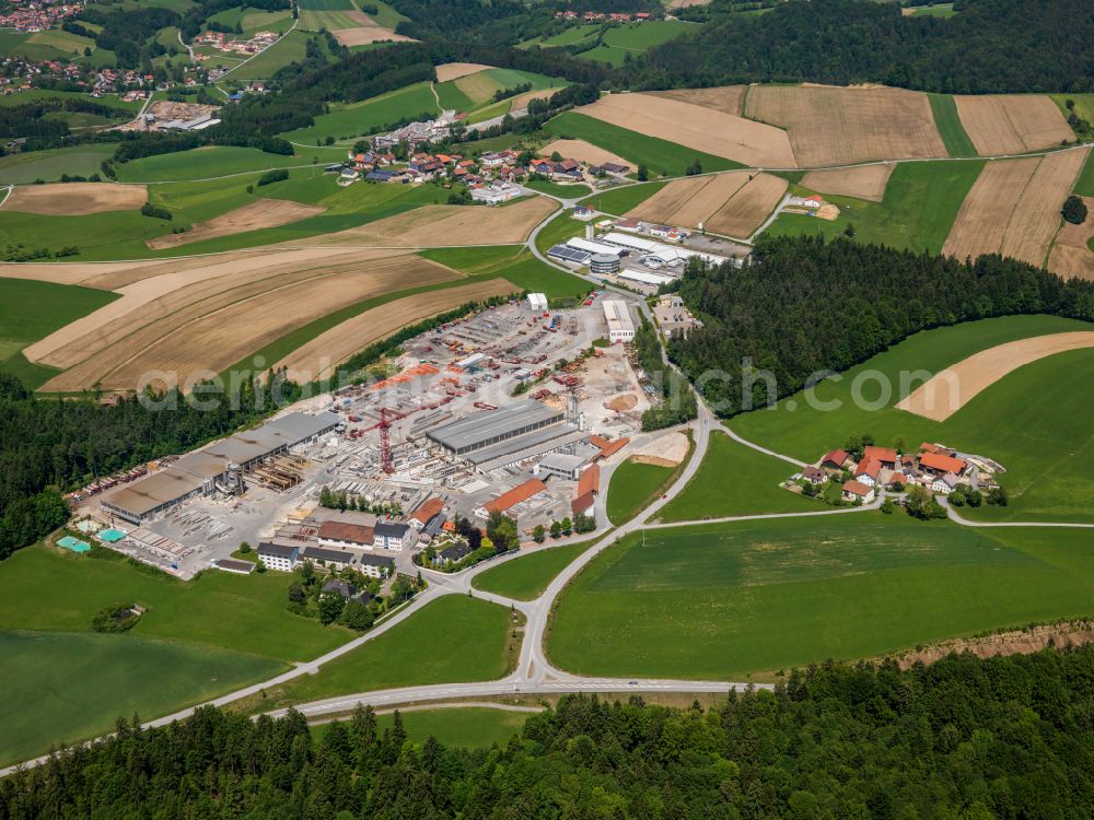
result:
[[[0,817],[1082,820],[1094,647],[825,665],[709,711],[566,696],[504,747],[411,742],[371,710],[316,742],[290,712],[119,721],[0,783]]]

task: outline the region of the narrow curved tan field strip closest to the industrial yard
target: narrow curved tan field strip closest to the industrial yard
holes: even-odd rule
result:
[[[324,378],[331,375],[338,364],[357,351],[407,325],[458,307],[466,302],[481,301],[490,296],[507,296],[515,291],[520,291],[520,288],[507,280],[491,279],[398,298],[330,328],[274,366],[288,367],[289,377],[300,378],[302,384],[314,378]]]

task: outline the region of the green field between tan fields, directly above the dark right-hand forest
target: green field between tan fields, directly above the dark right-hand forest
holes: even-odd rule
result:
[[[782,213],[766,233],[834,237],[841,235],[848,225],[854,225],[854,238],[859,242],[939,254],[984,164],[984,160],[899,163],[881,202],[825,195],[826,201],[840,209],[834,222]]]

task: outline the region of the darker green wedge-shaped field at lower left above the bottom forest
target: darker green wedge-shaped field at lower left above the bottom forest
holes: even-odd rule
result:
[[[138,635],[0,630],[0,764],[170,714],[284,669],[276,660]]]

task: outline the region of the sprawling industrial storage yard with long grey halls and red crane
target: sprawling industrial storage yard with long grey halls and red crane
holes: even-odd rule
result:
[[[267,569],[410,573],[428,546],[459,546],[454,520],[485,527],[493,513],[526,540],[536,525],[596,515],[601,464],[642,441],[650,389],[629,347],[593,345],[633,327],[625,302],[550,311],[531,294],[405,342],[371,382],[72,501],[88,531],[118,534],[100,543],[183,578],[247,571],[232,558],[244,541]]]

